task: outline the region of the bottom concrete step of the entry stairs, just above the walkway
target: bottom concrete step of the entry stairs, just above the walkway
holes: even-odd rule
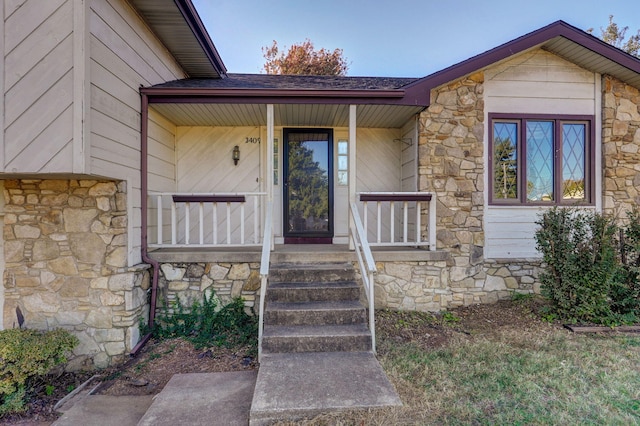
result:
[[[365,324],[269,326],[262,335],[262,353],[365,352],[371,333]]]

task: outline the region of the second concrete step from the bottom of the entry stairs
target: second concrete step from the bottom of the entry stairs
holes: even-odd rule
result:
[[[271,325],[337,325],[366,323],[366,311],[357,300],[329,302],[269,302],[265,328]]]

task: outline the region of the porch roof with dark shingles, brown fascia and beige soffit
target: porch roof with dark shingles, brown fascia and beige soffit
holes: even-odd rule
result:
[[[142,88],[149,104],[179,126],[264,126],[274,104],[276,126],[397,128],[425,108],[426,96],[404,88],[416,78],[228,74]]]

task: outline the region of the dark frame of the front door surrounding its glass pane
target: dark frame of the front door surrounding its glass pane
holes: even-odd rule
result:
[[[325,232],[290,232],[289,223],[289,135],[295,133],[327,134],[327,175],[329,206],[327,212],[328,230]],[[320,127],[285,127],[282,129],[282,236],[285,244],[332,244],[335,233],[334,204],[334,170],[333,170],[333,129]]]

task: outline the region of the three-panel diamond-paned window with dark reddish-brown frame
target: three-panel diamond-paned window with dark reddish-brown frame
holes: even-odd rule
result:
[[[592,118],[491,114],[492,204],[590,204]]]

